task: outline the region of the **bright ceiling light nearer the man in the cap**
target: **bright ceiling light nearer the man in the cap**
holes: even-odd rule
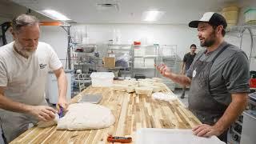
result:
[[[143,21],[157,21],[162,15],[165,14],[164,11],[152,10],[152,11],[145,11],[142,14]]]

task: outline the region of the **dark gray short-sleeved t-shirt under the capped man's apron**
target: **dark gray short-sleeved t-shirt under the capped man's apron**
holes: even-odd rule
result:
[[[186,73],[187,76],[192,78],[194,63],[201,55],[201,61],[210,62],[226,44],[227,42],[222,42],[217,50],[208,54],[206,54],[206,50],[199,51]],[[250,70],[246,54],[237,46],[228,46],[216,58],[210,69],[210,92],[218,102],[229,105],[231,94],[250,92],[249,78]]]

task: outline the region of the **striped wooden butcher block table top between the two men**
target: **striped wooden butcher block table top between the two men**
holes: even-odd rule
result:
[[[166,92],[168,91],[170,90],[166,87]],[[116,118],[114,125],[101,130],[83,131],[56,130],[56,126],[34,126],[10,143],[108,143],[108,134],[132,137],[135,142],[136,130],[140,128],[190,129],[201,123],[179,100],[164,102],[146,95],[91,86],[83,90],[82,94],[102,94],[99,104],[112,110]],[[78,94],[70,103],[77,102],[80,97],[81,94]]]

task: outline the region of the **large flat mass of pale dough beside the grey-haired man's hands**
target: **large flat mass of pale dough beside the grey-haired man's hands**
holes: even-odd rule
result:
[[[68,107],[58,121],[57,130],[95,130],[113,125],[114,115],[109,108],[91,103],[75,103]]]

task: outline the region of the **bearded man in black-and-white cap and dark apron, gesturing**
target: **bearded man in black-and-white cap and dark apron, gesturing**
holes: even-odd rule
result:
[[[226,142],[230,125],[246,108],[249,87],[249,62],[237,46],[225,42],[226,19],[218,13],[207,12],[189,23],[198,29],[201,50],[186,75],[174,74],[166,65],[157,66],[166,78],[190,86],[189,109],[202,122],[194,134],[218,136]]]

